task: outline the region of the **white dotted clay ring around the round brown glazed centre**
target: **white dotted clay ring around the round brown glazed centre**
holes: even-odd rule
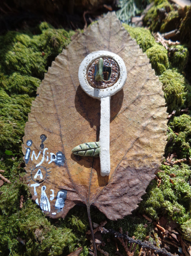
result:
[[[114,85],[105,89],[98,89],[98,88],[92,87],[87,81],[87,78],[86,78],[87,69],[96,59],[103,58],[103,57],[108,57],[115,60],[115,62],[119,66],[119,78]],[[119,55],[115,53],[111,53],[110,51],[94,51],[88,54],[82,60],[79,67],[79,71],[78,71],[78,78],[79,78],[82,90],[85,91],[89,96],[96,99],[112,96],[116,92],[120,91],[126,82],[127,73],[126,73],[125,63],[123,62],[123,59],[119,57]]]

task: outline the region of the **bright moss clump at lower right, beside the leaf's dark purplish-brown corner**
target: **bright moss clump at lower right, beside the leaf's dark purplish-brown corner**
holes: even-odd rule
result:
[[[156,181],[149,185],[144,202],[140,204],[140,210],[155,219],[167,215],[180,225],[185,223],[190,219],[190,168],[183,163],[181,166],[173,167],[162,165],[157,176],[161,178],[161,185],[157,187]]]

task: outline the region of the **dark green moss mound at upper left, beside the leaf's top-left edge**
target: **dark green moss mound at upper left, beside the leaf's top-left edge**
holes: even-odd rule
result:
[[[75,32],[55,30],[47,23],[39,26],[41,33],[32,35],[8,32],[0,37],[1,70],[43,78],[47,64],[70,42]]]

